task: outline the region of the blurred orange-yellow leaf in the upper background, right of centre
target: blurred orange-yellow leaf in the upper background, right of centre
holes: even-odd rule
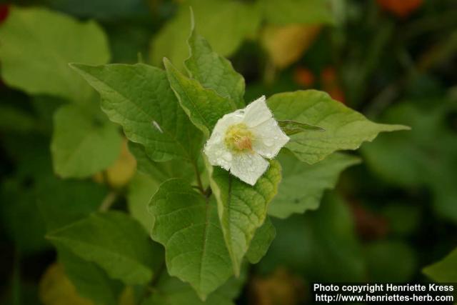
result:
[[[267,25],[261,34],[261,43],[274,66],[283,69],[300,58],[320,29],[321,26],[316,25]]]

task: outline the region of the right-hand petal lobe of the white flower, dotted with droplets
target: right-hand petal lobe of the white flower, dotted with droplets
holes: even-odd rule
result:
[[[289,140],[275,119],[268,119],[251,130],[254,134],[253,150],[268,159],[273,159]]]

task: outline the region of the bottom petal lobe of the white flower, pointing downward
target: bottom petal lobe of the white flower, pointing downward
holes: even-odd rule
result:
[[[254,185],[270,164],[258,154],[233,154],[230,172],[241,181]]]

